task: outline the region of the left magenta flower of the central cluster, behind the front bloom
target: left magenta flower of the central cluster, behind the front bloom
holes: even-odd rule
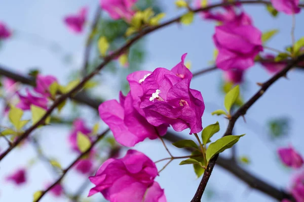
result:
[[[107,100],[99,108],[100,118],[109,126],[116,141],[124,146],[134,146],[145,138],[156,139],[166,134],[167,125],[155,128],[149,124],[134,107],[135,102],[129,92],[117,100]]]

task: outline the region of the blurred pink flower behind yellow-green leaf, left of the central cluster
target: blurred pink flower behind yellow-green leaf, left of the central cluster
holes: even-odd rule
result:
[[[92,130],[86,127],[85,121],[82,119],[75,119],[73,121],[73,129],[72,132],[68,136],[69,144],[71,145],[74,151],[80,152],[77,144],[77,133],[81,132],[84,135],[89,135]]]

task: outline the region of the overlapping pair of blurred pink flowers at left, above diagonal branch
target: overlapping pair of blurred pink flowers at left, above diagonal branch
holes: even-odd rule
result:
[[[48,108],[48,97],[50,94],[50,85],[54,82],[57,82],[57,79],[54,76],[42,76],[37,75],[36,77],[36,87],[34,88],[35,94],[32,94],[29,89],[26,89],[26,95],[22,95],[20,92],[17,92],[19,96],[19,103],[16,107],[22,110],[30,110],[31,105],[41,107],[43,109]]]

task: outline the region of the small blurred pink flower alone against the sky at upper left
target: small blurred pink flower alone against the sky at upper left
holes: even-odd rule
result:
[[[80,9],[78,14],[66,16],[64,18],[64,23],[72,32],[81,33],[87,20],[87,13],[88,9],[83,7]]]

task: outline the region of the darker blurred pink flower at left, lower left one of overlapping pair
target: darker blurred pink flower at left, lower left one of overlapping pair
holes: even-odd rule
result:
[[[45,110],[48,108],[48,99],[46,97],[37,97],[32,95],[29,89],[26,89],[26,96],[21,95],[19,92],[17,92],[17,94],[20,100],[16,107],[21,110],[30,110],[31,105],[41,107]]]

